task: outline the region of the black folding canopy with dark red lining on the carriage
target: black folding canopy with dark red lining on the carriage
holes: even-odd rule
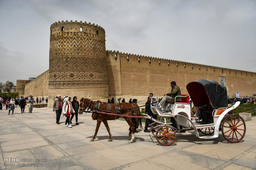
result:
[[[187,84],[194,106],[204,106],[211,101],[214,109],[228,107],[227,89],[214,80],[196,80]]]

